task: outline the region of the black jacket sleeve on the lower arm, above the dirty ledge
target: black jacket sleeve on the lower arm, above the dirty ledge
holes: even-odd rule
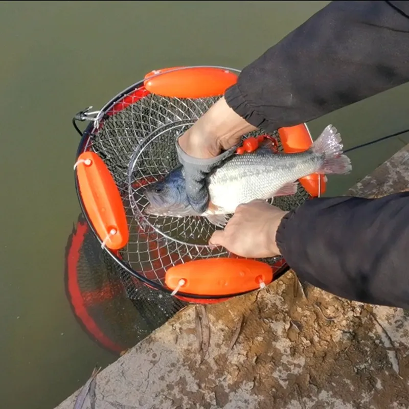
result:
[[[301,280],[349,300],[409,308],[409,192],[307,200],[277,245]]]

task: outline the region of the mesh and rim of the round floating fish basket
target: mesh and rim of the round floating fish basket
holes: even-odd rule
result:
[[[236,76],[239,73],[225,67],[213,68],[235,73]],[[166,73],[165,70],[152,72],[149,78]],[[218,228],[206,218],[160,217],[144,213],[148,205],[144,195],[146,186],[160,180],[179,165],[175,139],[223,95],[223,92],[197,98],[157,95],[147,89],[146,78],[112,98],[101,110],[90,112],[88,108],[79,112],[73,120],[74,126],[82,134],[77,158],[82,152],[95,152],[109,170],[121,196],[129,240],[118,251],[107,247],[105,251],[120,267],[121,280],[130,298],[136,297],[141,282],[170,294],[172,290],[165,285],[165,274],[174,265],[197,259],[237,257],[224,248],[208,245],[209,238]],[[76,120],[90,121],[85,131],[78,129]],[[259,129],[246,134],[243,140],[261,134],[268,132]],[[277,140],[281,151],[279,134],[275,132],[270,135]],[[103,244],[104,238],[97,235],[84,208],[77,177],[75,183],[85,219]],[[309,198],[308,192],[299,184],[296,194],[281,196],[270,202],[283,210],[292,210]],[[275,278],[288,269],[281,257],[261,261],[272,267]],[[181,300],[191,302],[211,302],[232,295],[211,297],[185,293],[183,290],[176,294]]]

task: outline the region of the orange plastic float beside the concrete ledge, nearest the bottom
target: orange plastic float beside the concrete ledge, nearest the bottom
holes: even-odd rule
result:
[[[260,284],[272,281],[271,267],[257,260],[236,258],[213,258],[188,261],[169,268],[165,275],[166,285],[174,290],[180,280],[185,293],[223,296],[252,291]]]

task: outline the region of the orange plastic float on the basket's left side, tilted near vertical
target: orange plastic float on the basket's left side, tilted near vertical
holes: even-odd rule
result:
[[[84,208],[98,236],[111,250],[129,239],[121,196],[108,168],[94,152],[83,152],[77,161],[77,177]]]

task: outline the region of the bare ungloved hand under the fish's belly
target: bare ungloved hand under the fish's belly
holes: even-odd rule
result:
[[[276,244],[276,232],[287,213],[265,200],[240,205],[224,230],[213,233],[209,244],[223,246],[241,257],[278,256],[280,251]]]

